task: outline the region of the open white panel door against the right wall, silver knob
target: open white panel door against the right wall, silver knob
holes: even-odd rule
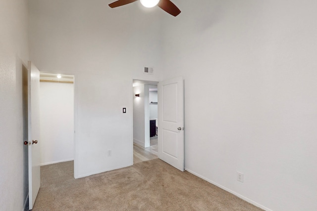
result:
[[[184,87],[178,77],[158,84],[159,159],[184,171]]]

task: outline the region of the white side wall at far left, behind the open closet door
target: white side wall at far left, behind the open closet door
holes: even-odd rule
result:
[[[27,194],[22,64],[28,61],[28,1],[0,1],[0,209],[22,211]]]

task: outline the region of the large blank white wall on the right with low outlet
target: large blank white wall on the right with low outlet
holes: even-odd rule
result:
[[[184,77],[186,169],[266,210],[315,211],[317,1],[174,2],[163,76]]]

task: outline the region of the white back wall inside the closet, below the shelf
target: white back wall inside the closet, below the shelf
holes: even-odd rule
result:
[[[40,83],[41,165],[74,159],[74,84]]]

